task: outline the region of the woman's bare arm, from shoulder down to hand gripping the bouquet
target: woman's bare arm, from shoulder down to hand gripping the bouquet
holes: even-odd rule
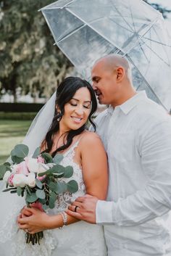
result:
[[[107,154],[101,139],[96,133],[84,133],[79,148],[86,193],[101,200],[106,199],[108,185]],[[30,216],[23,218],[23,215]],[[67,215],[67,225],[77,221],[77,218]],[[28,229],[30,234],[34,234],[46,229],[62,227],[64,220],[61,214],[47,215],[46,212],[41,212],[36,208],[25,208],[22,210],[22,215],[17,218],[17,223],[19,228]]]

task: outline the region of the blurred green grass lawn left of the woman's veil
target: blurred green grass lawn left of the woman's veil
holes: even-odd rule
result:
[[[30,120],[0,120],[0,165],[7,160],[16,144],[28,131]]]

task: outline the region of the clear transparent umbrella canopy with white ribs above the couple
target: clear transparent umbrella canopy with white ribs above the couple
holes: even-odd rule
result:
[[[133,85],[171,108],[171,45],[162,15],[141,0],[59,0],[41,9],[55,43],[84,78],[96,59],[117,53]]]

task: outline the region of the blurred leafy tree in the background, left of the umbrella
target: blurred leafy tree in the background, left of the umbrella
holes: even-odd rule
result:
[[[0,91],[49,97],[70,71],[38,9],[51,0],[5,0],[0,9]]]

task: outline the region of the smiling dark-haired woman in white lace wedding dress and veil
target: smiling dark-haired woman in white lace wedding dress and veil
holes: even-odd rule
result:
[[[86,131],[88,120],[96,129],[91,120],[96,107],[91,85],[86,80],[70,77],[59,85],[57,95],[51,97],[36,117],[23,143],[28,144],[30,152],[41,144],[41,152],[49,152],[52,157],[62,154],[60,164],[72,165],[72,179],[78,182],[78,191],[59,194],[54,209],[46,212],[24,207],[19,214],[18,207],[24,205],[19,202],[17,210],[10,210],[10,217],[0,231],[3,256],[107,255],[102,226],[79,221],[65,212],[71,202],[86,193],[102,200],[107,195],[106,152],[99,136]],[[30,234],[43,231],[41,244],[26,244],[25,231]]]

